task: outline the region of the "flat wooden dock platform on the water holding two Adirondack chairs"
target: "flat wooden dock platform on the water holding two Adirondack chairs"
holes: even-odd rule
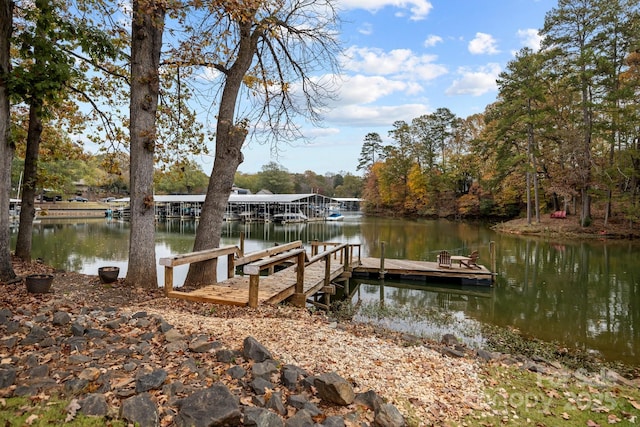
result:
[[[361,258],[361,264],[353,270],[354,275],[368,275],[378,277],[380,275],[380,258]],[[437,262],[411,261],[403,259],[385,259],[384,277],[400,278],[437,278],[448,280],[460,280],[462,282],[488,282],[491,284],[493,273],[483,265],[478,268],[469,268],[452,263],[451,267],[440,267]]]

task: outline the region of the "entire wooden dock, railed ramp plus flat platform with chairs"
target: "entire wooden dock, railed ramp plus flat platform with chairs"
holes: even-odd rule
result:
[[[288,300],[294,305],[313,303],[328,308],[336,284],[354,276],[403,279],[442,279],[462,284],[490,286],[493,273],[482,265],[466,267],[436,262],[362,258],[360,244],[312,242],[311,256],[301,241],[243,254],[244,245],[226,246],[161,258],[165,267],[167,297],[190,301],[257,307]],[[357,251],[357,252],[356,252]],[[227,279],[194,290],[176,290],[173,268],[179,265],[227,258]],[[241,268],[242,274],[236,274]],[[324,303],[318,297],[324,297]]]

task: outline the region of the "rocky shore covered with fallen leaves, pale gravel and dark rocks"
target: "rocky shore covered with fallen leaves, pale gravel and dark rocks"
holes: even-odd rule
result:
[[[141,426],[427,426],[462,424],[470,415],[508,418],[511,411],[487,395],[490,366],[638,386],[613,371],[575,373],[554,361],[470,349],[451,335],[435,343],[286,305],[167,299],[161,290],[132,289],[122,280],[104,285],[38,263],[16,262],[15,270],[53,273],[55,280],[47,294],[30,294],[22,282],[2,285],[0,401],[29,396],[46,405],[59,396],[69,402],[67,422],[78,414]]]

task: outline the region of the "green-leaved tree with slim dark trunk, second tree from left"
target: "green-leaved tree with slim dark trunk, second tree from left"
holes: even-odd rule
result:
[[[98,63],[115,57],[111,38],[89,25],[83,16],[69,14],[70,4],[36,0],[25,3],[20,31],[13,39],[17,55],[11,73],[10,94],[16,105],[28,107],[24,180],[21,194],[20,227],[16,256],[31,258],[31,236],[35,216],[34,199],[38,187],[38,160],[45,127],[54,119],[56,126],[66,121],[82,128],[75,102],[68,102],[73,82],[86,76],[85,61]],[[86,53],[83,58],[81,53]],[[82,64],[82,65],[80,65]],[[19,107],[18,107],[19,108]]]

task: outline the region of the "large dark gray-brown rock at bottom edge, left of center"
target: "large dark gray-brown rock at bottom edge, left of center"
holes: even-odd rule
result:
[[[242,418],[237,399],[223,384],[196,391],[177,405],[174,421],[178,427],[237,426]]]

